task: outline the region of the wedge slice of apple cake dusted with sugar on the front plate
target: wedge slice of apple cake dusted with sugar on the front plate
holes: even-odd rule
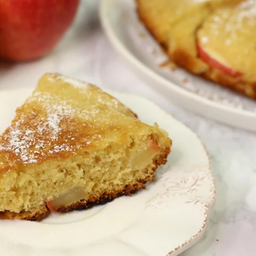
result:
[[[45,74],[0,136],[0,218],[40,221],[132,195],[171,144],[96,86]]]

